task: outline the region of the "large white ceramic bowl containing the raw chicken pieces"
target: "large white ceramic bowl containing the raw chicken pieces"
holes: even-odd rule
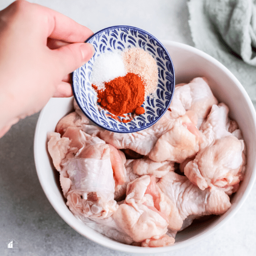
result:
[[[176,83],[189,82],[197,76],[206,76],[215,96],[229,106],[231,117],[238,122],[247,145],[247,169],[239,191],[231,200],[230,209],[224,215],[216,216],[203,224],[194,225],[178,233],[173,246],[135,247],[113,241],[75,218],[66,206],[57,186],[55,172],[47,154],[47,132],[54,131],[58,120],[70,111],[72,99],[51,99],[41,111],[35,131],[35,164],[41,186],[54,209],[67,224],[88,239],[114,250],[130,253],[162,253],[194,244],[217,230],[238,211],[256,179],[256,113],[242,85],[227,68],[206,53],[184,44],[162,42],[172,56]]]

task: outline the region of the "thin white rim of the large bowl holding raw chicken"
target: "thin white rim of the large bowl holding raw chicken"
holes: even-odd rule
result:
[[[197,55],[200,55],[201,57],[206,58],[210,62],[216,64],[218,67],[223,69],[224,72],[227,74],[227,76],[229,76],[230,79],[232,79],[236,83],[236,86],[239,87],[239,90],[241,91],[241,93],[243,94],[245,99],[247,100],[250,112],[253,116],[253,123],[254,123],[254,126],[256,127],[256,111],[255,111],[255,108],[253,106],[253,103],[251,102],[250,97],[248,96],[244,87],[241,85],[241,83],[238,81],[238,79],[236,79],[236,77],[233,75],[233,73],[230,72],[230,70],[228,70],[223,64],[221,64],[219,61],[217,61],[212,56],[208,55],[205,52],[202,52],[199,49],[196,49],[195,47],[192,47],[192,46],[189,46],[189,45],[186,45],[186,44],[183,44],[183,43],[175,42],[175,41],[169,41],[169,40],[162,40],[162,42],[163,42],[163,44],[168,45],[170,47],[175,46],[175,47],[179,47],[180,49],[187,49],[189,51],[195,52]],[[113,240],[113,244],[112,243],[110,244],[110,240],[112,240],[112,239],[109,240],[107,238],[107,239],[99,240],[95,236],[89,237],[89,234],[84,234],[83,232],[81,232],[81,229],[79,229],[79,228],[77,229],[76,227],[74,227],[74,225],[72,224],[72,221],[68,220],[67,217],[64,216],[64,214],[62,214],[60,209],[58,209],[58,207],[56,207],[56,205],[55,205],[56,203],[51,198],[51,194],[49,192],[49,189],[46,186],[43,186],[44,185],[43,175],[39,172],[39,169],[41,169],[41,168],[40,168],[40,166],[38,166],[38,160],[37,159],[40,156],[40,154],[38,152],[38,138],[41,137],[41,134],[39,134],[39,128],[41,126],[41,122],[42,122],[42,118],[44,116],[44,112],[45,112],[45,108],[41,111],[41,113],[39,115],[38,122],[37,122],[36,129],[35,129],[35,137],[34,137],[35,166],[36,166],[38,179],[41,183],[42,189],[44,190],[44,193],[47,196],[49,202],[52,204],[52,207],[56,210],[58,215],[60,215],[61,218],[67,224],[70,225],[70,227],[74,228],[76,230],[76,232],[80,233],[82,236],[85,236],[87,239],[90,239],[91,241],[94,241],[97,244],[103,245],[103,246],[108,247],[108,248],[113,249],[113,250],[117,250],[117,251],[121,251],[121,252],[127,252],[127,253],[151,254],[151,253],[164,253],[164,252],[175,251],[175,250],[179,250],[181,248],[187,247],[189,245],[195,244],[195,243],[205,239],[207,236],[211,235],[212,233],[214,233],[216,230],[218,230],[220,227],[222,227],[230,218],[232,218],[238,212],[238,210],[241,208],[242,204],[244,203],[244,201],[248,197],[251,189],[253,188],[255,180],[256,180],[256,163],[254,163],[253,172],[251,174],[251,177],[250,177],[250,180],[247,184],[247,187],[245,188],[243,195],[239,199],[239,202],[234,206],[234,208],[229,212],[229,214],[226,215],[220,222],[215,224],[209,230],[206,230],[204,233],[201,233],[198,236],[192,237],[192,238],[190,238],[190,239],[188,239],[184,242],[177,243],[173,247],[172,246],[156,247],[156,248],[136,247],[136,246],[131,246],[131,245],[128,245],[128,244],[122,244],[122,243],[119,243],[119,242],[114,241],[114,240]]]

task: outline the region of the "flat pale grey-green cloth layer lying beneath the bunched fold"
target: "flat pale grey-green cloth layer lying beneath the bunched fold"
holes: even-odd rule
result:
[[[220,0],[212,0],[215,1]],[[228,47],[209,18],[205,3],[206,0],[188,0],[189,27],[195,47],[224,64],[244,86],[256,108],[256,67],[238,58]]]

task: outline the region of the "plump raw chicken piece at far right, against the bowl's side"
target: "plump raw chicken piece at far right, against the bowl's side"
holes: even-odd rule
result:
[[[216,186],[231,194],[243,177],[243,150],[243,140],[233,135],[216,140],[198,152],[185,166],[184,174],[202,190]]]

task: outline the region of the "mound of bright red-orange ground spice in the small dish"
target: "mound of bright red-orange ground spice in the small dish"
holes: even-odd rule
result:
[[[127,73],[126,76],[105,82],[105,90],[98,90],[95,84],[92,84],[92,87],[98,93],[100,105],[116,116],[134,113],[137,108],[137,111],[141,111],[145,84],[137,74]]]

